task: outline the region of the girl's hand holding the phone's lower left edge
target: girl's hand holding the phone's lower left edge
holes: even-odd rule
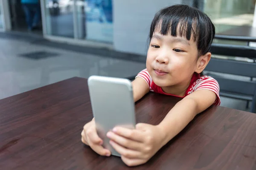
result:
[[[103,141],[97,134],[94,118],[92,121],[84,125],[81,136],[82,142],[89,145],[96,153],[101,156],[111,156],[111,152],[102,147]]]

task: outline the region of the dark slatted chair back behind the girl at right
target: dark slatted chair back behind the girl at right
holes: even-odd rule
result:
[[[256,48],[242,45],[212,44],[211,53],[224,56],[256,58]],[[256,109],[256,63],[242,62],[231,59],[212,58],[205,71],[217,72],[221,74],[232,74],[243,77],[251,77],[251,80],[230,79],[224,75],[209,73],[209,76],[215,78],[220,85],[220,96],[226,96],[235,99],[252,101],[251,112]]]

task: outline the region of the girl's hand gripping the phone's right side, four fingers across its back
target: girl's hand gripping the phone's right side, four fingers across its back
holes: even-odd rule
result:
[[[163,147],[164,133],[158,126],[139,123],[136,129],[115,127],[108,132],[111,146],[128,166],[146,163]]]

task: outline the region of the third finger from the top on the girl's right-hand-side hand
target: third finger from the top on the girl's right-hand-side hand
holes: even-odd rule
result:
[[[110,141],[109,143],[116,150],[116,152],[120,153],[120,155],[125,156],[126,158],[130,158],[130,159],[141,158],[141,153],[138,151],[127,149],[113,141]]]

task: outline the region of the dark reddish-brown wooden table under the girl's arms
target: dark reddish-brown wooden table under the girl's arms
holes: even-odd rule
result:
[[[146,95],[137,102],[137,122],[156,125],[179,100]],[[81,143],[92,118],[87,80],[77,77],[0,100],[0,169],[130,169]],[[256,114],[212,106],[134,169],[255,170]]]

